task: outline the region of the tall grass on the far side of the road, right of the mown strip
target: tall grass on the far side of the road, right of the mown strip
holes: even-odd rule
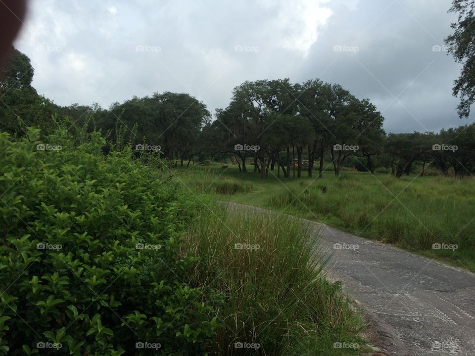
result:
[[[268,206],[290,207],[300,216],[475,270],[474,180],[414,179],[342,173],[325,183],[316,181],[303,193],[299,185],[282,190],[269,197]],[[432,249],[442,243],[457,249]]]

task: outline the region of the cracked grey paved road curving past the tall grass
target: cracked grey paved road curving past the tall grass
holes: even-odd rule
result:
[[[259,208],[230,203],[230,209]],[[274,213],[272,213],[274,214]],[[368,311],[388,356],[475,356],[475,275],[303,220],[334,251],[327,271]],[[334,249],[334,247],[336,249]]]

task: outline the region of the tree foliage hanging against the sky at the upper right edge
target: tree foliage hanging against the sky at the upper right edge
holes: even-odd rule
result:
[[[449,12],[458,13],[458,20],[451,24],[453,34],[445,39],[448,51],[461,63],[460,76],[455,80],[453,95],[460,97],[457,110],[460,117],[470,115],[475,102],[475,1],[453,0]]]

